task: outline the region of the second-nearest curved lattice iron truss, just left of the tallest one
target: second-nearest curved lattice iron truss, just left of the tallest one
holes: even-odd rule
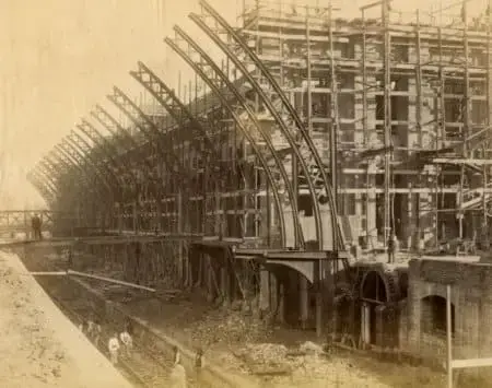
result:
[[[285,185],[285,190],[289,196],[290,205],[292,209],[292,216],[293,216],[293,225],[294,225],[294,245],[301,248],[304,247],[304,237],[303,237],[303,231],[300,225],[300,217],[298,217],[298,210],[297,210],[297,201],[295,198],[294,189],[291,185],[291,181],[289,179],[289,176],[286,174],[285,167],[280,160],[273,143],[271,142],[270,137],[265,132],[261,125],[259,124],[256,115],[254,114],[253,109],[248,106],[246,98],[243,96],[243,94],[238,91],[235,83],[231,82],[229,80],[229,77],[220,69],[220,67],[210,58],[209,55],[197,44],[195,40],[186,34],[181,28],[178,26],[174,27],[176,33],[176,38],[174,39],[174,45],[180,49],[180,52],[178,52],[181,57],[186,55],[188,59],[185,59],[195,71],[197,71],[197,68],[199,68],[211,82],[215,84],[218,89],[221,91],[226,91],[226,96],[231,95],[231,98],[227,98],[227,101],[236,101],[237,108],[241,108],[243,111],[246,111],[249,121],[254,125],[258,133],[260,133],[262,140],[266,142],[267,148],[269,152],[271,153],[274,164],[282,177],[282,180]],[[166,42],[169,44],[171,39],[166,39]],[[234,110],[236,110],[236,106],[233,106]],[[241,117],[241,115],[239,115]],[[253,141],[255,141],[255,138],[253,137]],[[263,168],[272,168],[272,167],[263,167]],[[272,185],[272,187],[276,187],[276,185]],[[281,209],[280,209],[281,211]]]

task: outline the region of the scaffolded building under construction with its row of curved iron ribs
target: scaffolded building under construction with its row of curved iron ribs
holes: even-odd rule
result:
[[[333,7],[249,1],[238,27],[200,5],[190,19],[224,60],[176,26],[166,44],[197,82],[184,96],[139,62],[131,77],[166,114],[115,87],[130,128],[96,106],[30,173],[54,209],[75,209],[78,226],[255,248],[489,235],[488,4],[471,21],[467,1],[407,15],[383,0],[348,21]]]

